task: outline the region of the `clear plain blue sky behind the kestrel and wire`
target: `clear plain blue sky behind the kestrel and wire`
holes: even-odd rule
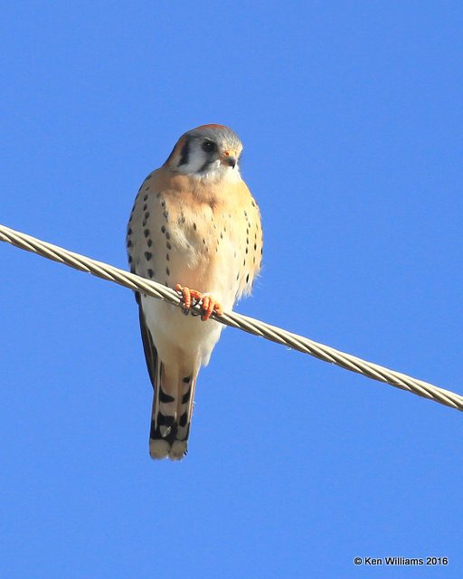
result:
[[[126,267],[187,129],[229,125],[264,227],[238,311],[463,393],[458,2],[2,8],[0,222]],[[0,244],[0,575],[357,577],[447,556],[462,416],[227,329],[190,452],[147,452],[130,291]]]

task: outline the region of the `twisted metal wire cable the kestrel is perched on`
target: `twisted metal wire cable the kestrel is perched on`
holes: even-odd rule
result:
[[[174,289],[166,288],[156,281],[146,280],[134,273],[119,270],[103,261],[92,260],[80,255],[79,253],[69,252],[58,245],[43,242],[31,235],[14,231],[14,229],[10,229],[1,224],[0,241],[11,243],[15,247],[25,250],[26,252],[37,253],[49,260],[59,261],[75,270],[86,271],[103,280],[113,281],[120,286],[129,289],[137,289],[153,298],[164,299],[175,306],[183,306],[181,296]],[[192,309],[197,313],[201,313],[201,307],[199,304],[192,306]],[[412,394],[417,394],[423,398],[429,398],[434,402],[445,404],[451,408],[463,411],[463,396],[459,394],[423,382],[422,380],[412,378],[411,376],[404,375],[400,372],[389,370],[382,365],[366,362],[361,358],[345,354],[333,347],[320,344],[307,337],[292,334],[281,327],[270,326],[259,319],[242,316],[235,312],[225,311],[222,316],[214,313],[213,319],[225,324],[226,326],[237,327],[249,334],[253,334],[254,336],[265,337],[272,342],[288,346],[304,354],[309,354],[310,356],[315,356],[320,360],[329,362],[330,364],[339,365],[351,372],[362,374],[379,382],[391,384],[392,386],[396,386],[402,390],[407,390]]]

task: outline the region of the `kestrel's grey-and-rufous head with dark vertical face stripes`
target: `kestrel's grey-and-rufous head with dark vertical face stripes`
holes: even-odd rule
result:
[[[165,161],[170,170],[201,178],[238,180],[242,144],[231,128],[202,125],[178,139]]]

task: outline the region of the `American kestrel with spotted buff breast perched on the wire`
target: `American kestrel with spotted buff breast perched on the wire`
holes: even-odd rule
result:
[[[260,270],[259,207],[241,179],[242,145],[231,128],[186,132],[141,185],[128,222],[131,271],[182,294],[184,310],[137,293],[146,365],[154,388],[149,452],[187,451],[194,387],[222,324],[213,311],[249,294]],[[203,316],[188,316],[192,300]]]

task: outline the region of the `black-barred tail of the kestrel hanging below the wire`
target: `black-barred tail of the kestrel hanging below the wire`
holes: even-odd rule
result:
[[[152,459],[181,460],[187,452],[196,375],[179,377],[167,370],[157,359],[149,454]]]

